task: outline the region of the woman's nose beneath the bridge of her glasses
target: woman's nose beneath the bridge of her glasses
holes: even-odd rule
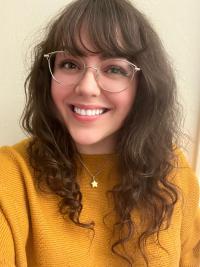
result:
[[[95,67],[86,67],[81,80],[75,88],[78,95],[99,96],[101,89],[96,80],[97,69]]]

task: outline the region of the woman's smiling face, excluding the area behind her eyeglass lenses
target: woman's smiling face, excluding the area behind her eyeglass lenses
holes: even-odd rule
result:
[[[87,42],[87,47],[89,45]],[[55,60],[59,60],[58,57]],[[95,67],[102,62],[102,57],[88,54],[81,60]],[[112,153],[117,133],[133,105],[137,81],[134,78],[126,90],[111,93],[100,88],[95,74],[94,69],[88,68],[76,86],[61,86],[52,79],[52,99],[80,153]]]

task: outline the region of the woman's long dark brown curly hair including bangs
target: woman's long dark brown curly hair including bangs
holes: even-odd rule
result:
[[[178,189],[167,177],[176,162],[173,144],[180,133],[180,108],[174,75],[162,44],[145,16],[130,2],[77,0],[46,28],[43,41],[34,49],[25,82],[22,126],[32,136],[30,162],[38,184],[45,181],[61,197],[60,212],[77,226],[93,229],[93,222],[79,220],[83,207],[76,181],[78,151],[66,126],[56,116],[51,75],[43,57],[56,50],[84,55],[87,48],[82,49],[83,26],[98,52],[125,57],[142,69],[134,105],[116,143],[121,180],[110,193],[119,218],[113,227],[119,228],[121,235],[111,249],[132,266],[131,258],[117,252],[117,247],[134,236],[131,214],[140,210],[146,227],[138,238],[138,247],[148,265],[146,240],[153,234],[158,236],[163,224],[169,227],[178,200]]]

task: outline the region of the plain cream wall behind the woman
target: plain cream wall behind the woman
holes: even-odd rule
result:
[[[46,23],[69,1],[0,1],[0,145],[5,145],[24,138],[19,119],[31,49]],[[183,130],[190,136],[185,153],[200,174],[200,1],[132,2],[150,19],[170,55],[184,107]]]

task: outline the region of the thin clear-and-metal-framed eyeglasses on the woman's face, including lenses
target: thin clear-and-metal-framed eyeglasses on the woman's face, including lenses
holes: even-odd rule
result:
[[[80,57],[74,57],[65,51],[54,51],[44,57],[48,61],[52,78],[61,86],[76,86],[87,69],[93,69],[101,89],[119,93],[129,87],[135,73],[140,71],[140,68],[126,59],[109,58],[97,66],[87,66]]]

